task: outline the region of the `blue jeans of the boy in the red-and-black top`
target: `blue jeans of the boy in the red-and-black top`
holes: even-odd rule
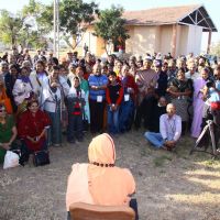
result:
[[[109,133],[119,133],[119,107],[116,111],[108,106],[108,131]]]

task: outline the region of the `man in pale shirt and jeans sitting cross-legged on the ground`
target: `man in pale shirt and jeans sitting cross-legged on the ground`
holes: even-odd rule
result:
[[[144,136],[155,147],[170,151],[176,146],[182,134],[182,118],[176,114],[176,107],[168,103],[165,114],[160,118],[160,133],[145,132]]]

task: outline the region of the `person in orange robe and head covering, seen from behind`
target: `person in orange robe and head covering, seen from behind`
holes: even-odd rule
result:
[[[66,209],[74,202],[102,206],[131,206],[136,211],[135,183],[129,169],[119,168],[111,136],[102,133],[92,139],[88,147],[89,164],[74,164],[68,177]],[[68,218],[70,215],[68,212]]]

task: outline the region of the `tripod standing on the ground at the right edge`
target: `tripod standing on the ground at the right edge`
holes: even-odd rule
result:
[[[191,148],[191,151],[189,153],[190,155],[194,152],[204,152],[204,153],[208,153],[208,154],[211,154],[213,156],[217,156],[218,151],[217,151],[216,140],[215,140],[213,127],[215,127],[213,121],[208,120],[206,127],[204,128],[202,132],[200,133],[199,138],[197,139],[195,146]],[[211,151],[207,151],[209,144],[205,145],[205,147],[199,146],[201,139],[204,138],[204,135],[206,135],[207,132],[209,132],[210,138],[211,138]]]

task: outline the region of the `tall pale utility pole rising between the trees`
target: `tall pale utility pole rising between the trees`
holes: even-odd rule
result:
[[[54,0],[54,55],[59,56],[59,0]]]

